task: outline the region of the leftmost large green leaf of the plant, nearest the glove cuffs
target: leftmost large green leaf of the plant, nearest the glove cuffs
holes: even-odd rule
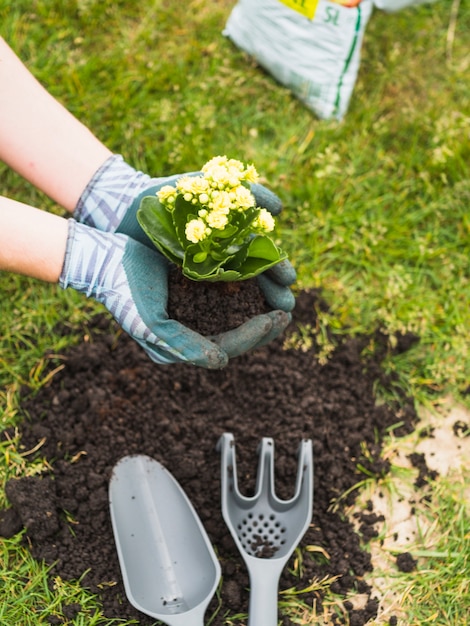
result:
[[[137,221],[163,255],[177,265],[182,264],[184,250],[176,236],[172,215],[158,198],[146,196],[142,199]]]

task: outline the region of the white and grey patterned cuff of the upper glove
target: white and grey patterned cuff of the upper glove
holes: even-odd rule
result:
[[[114,232],[134,198],[151,181],[119,154],[113,154],[97,170],[75,207],[74,218],[83,224]]]

